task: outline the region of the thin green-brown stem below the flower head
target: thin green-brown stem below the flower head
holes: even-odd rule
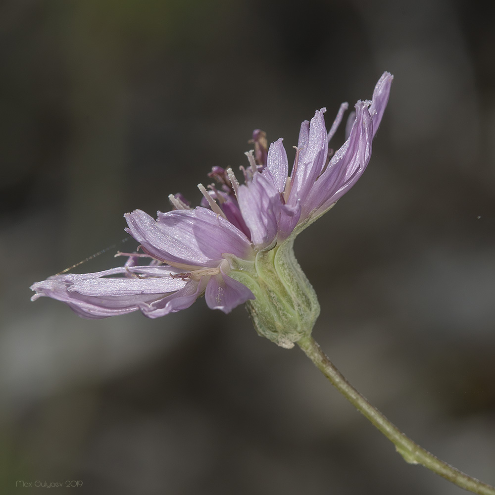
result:
[[[372,406],[331,363],[315,340],[309,336],[297,345],[311,359],[313,364],[330,380],[332,385],[362,412],[395,446],[397,452],[410,464],[422,464],[434,473],[458,487],[480,495],[495,495],[495,488],[471,478],[458,469],[435,457],[423,447],[415,444],[391,423],[376,407]]]

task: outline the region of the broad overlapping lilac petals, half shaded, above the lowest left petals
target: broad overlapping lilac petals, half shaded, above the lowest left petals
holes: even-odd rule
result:
[[[207,208],[158,212],[156,221],[141,210],[124,216],[145,251],[169,264],[217,266],[223,253],[244,258],[251,249],[245,234]]]

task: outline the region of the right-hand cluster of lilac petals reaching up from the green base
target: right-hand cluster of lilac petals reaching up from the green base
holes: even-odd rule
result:
[[[241,186],[238,200],[251,240],[261,247],[284,241],[298,227],[325,213],[361,177],[371,157],[371,144],[387,106],[393,76],[385,72],[372,101],[355,104],[355,119],[344,145],[330,157],[328,142],[335,134],[347,103],[343,103],[327,133],[323,113],[301,124],[292,174],[282,138],[268,149],[266,166]],[[253,205],[261,205],[253,209]]]

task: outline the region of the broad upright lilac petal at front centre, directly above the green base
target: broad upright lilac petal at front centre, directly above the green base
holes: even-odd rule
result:
[[[257,173],[249,186],[238,189],[237,197],[252,243],[261,248],[269,246],[277,235],[282,203],[273,182]]]

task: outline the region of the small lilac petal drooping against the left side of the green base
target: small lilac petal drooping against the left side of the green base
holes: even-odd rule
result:
[[[210,309],[220,309],[224,313],[230,313],[239,304],[255,297],[244,284],[230,278],[222,271],[221,274],[210,277],[204,298]]]

